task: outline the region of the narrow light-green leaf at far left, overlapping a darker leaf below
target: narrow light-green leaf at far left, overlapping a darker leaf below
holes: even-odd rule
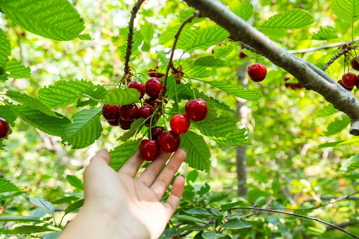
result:
[[[34,109],[38,110],[46,115],[50,115],[55,118],[60,118],[60,116],[56,115],[47,105],[41,102],[38,97],[31,97],[26,94],[21,94],[18,91],[6,91],[6,95],[13,100],[19,101],[20,103]]]

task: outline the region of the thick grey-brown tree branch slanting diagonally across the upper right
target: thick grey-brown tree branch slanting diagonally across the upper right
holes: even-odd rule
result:
[[[272,63],[292,74],[307,90],[321,94],[336,109],[349,116],[350,134],[359,135],[359,101],[325,72],[280,48],[221,2],[215,0],[185,0],[185,2],[198,9],[202,16],[227,29],[233,40],[253,47]]]

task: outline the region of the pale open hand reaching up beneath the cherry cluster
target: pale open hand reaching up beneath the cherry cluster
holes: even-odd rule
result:
[[[159,202],[186,158],[178,149],[161,152],[145,171],[134,177],[143,164],[137,151],[116,172],[108,166],[110,156],[101,149],[84,172],[85,203],[80,213],[58,239],[157,239],[176,210],[185,178],[176,177],[167,201]]]

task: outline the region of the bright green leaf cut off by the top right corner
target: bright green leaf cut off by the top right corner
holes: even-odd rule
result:
[[[357,0],[333,0],[330,4],[332,12],[350,23],[359,19],[359,2]]]

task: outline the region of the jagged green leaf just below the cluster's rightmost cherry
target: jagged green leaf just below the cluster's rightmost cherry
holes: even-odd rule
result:
[[[215,126],[208,124],[204,121],[193,122],[197,129],[203,135],[206,135],[210,139],[216,142],[237,146],[237,145],[250,145],[250,140],[246,139],[246,129],[237,129],[233,120],[229,117],[219,116],[213,120]]]

